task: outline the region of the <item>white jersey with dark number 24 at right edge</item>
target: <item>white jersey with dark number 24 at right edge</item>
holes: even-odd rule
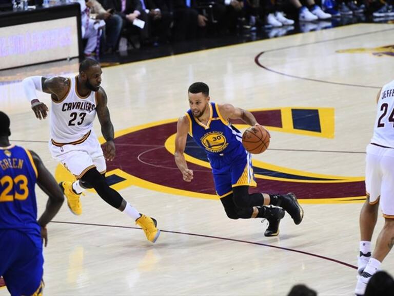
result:
[[[371,143],[394,148],[394,80],[382,87]]]

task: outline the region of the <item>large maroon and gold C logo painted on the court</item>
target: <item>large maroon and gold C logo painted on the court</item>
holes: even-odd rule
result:
[[[270,131],[334,138],[333,108],[276,108],[251,110]],[[176,119],[127,128],[115,133],[116,158],[108,162],[107,181],[116,190],[138,186],[168,194],[218,199],[206,153],[189,136],[185,157],[194,171],[192,182],[184,182],[174,161]],[[241,121],[237,128],[246,128]],[[214,152],[224,149],[220,134],[206,134],[202,142]],[[311,204],[359,202],[365,199],[364,178],[316,174],[253,160],[253,171],[261,192],[294,192]],[[57,180],[72,180],[63,165],[56,168]],[[253,189],[254,190],[254,189]]]

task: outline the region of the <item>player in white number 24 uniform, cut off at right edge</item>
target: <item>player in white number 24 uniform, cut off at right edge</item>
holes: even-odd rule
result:
[[[377,96],[375,128],[367,146],[365,187],[367,199],[360,213],[357,295],[364,295],[369,279],[379,271],[382,261],[394,246],[394,81],[384,85]],[[379,204],[384,227],[371,255]]]

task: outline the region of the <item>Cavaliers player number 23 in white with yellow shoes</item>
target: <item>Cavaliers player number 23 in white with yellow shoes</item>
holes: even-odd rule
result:
[[[38,101],[35,90],[51,94],[50,109],[52,157],[60,161],[75,177],[74,182],[61,182],[72,213],[81,215],[80,195],[94,188],[100,197],[115,209],[132,217],[154,243],[160,235],[156,220],[140,214],[118,192],[110,188],[105,180],[105,160],[115,157],[114,131],[107,107],[107,95],[100,86],[102,70],[100,64],[87,59],[80,64],[79,74],[74,78],[41,76],[23,80],[25,94],[31,102],[38,119],[47,117],[48,107]],[[106,140],[104,153],[93,131],[97,114],[101,131]]]

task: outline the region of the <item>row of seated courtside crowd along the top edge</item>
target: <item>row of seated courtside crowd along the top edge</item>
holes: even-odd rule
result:
[[[129,47],[149,47],[240,28],[291,27],[297,21],[301,26],[360,14],[394,16],[392,6],[381,0],[322,1],[76,0],[81,5],[86,56],[118,51],[122,37]]]

